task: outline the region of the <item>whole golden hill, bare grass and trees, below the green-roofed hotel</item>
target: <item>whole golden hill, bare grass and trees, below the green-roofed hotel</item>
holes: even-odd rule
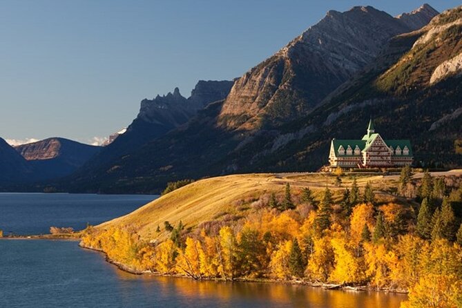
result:
[[[456,307],[461,204],[462,170],[228,175],[79,235],[134,273],[409,291],[407,305]]]

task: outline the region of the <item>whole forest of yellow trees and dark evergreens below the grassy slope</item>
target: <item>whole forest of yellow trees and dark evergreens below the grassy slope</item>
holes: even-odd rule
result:
[[[402,307],[462,307],[460,177],[412,179],[401,171],[394,198],[354,178],[334,193],[274,191],[249,203],[243,218],[157,226],[164,241],[135,227],[88,227],[81,246],[137,272],[193,279],[274,280],[407,292]],[[341,191],[342,193],[338,193]]]

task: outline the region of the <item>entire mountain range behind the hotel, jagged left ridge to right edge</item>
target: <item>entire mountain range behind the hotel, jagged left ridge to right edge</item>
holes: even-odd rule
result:
[[[329,11],[239,79],[145,99],[126,133],[46,185],[153,193],[184,178],[313,171],[332,137],[363,135],[371,116],[385,137],[411,139],[416,163],[461,166],[462,7],[438,14]]]

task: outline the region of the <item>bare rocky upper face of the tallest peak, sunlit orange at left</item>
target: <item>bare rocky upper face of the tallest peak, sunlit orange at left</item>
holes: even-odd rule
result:
[[[220,112],[220,124],[254,129],[306,115],[370,64],[391,37],[425,25],[436,14],[427,5],[399,18],[370,6],[327,12],[235,82]]]

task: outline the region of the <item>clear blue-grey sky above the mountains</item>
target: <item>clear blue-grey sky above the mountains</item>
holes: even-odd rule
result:
[[[440,12],[460,0],[427,1]],[[328,10],[390,15],[422,1],[0,0],[0,137],[88,144],[131,124],[144,98],[240,77]]]

